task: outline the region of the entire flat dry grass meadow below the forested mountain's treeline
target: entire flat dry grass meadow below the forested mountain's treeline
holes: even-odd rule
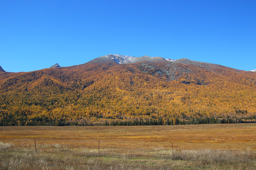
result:
[[[0,127],[0,158],[1,170],[255,170],[256,124]]]

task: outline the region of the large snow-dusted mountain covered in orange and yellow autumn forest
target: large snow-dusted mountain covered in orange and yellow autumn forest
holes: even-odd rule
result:
[[[256,122],[253,72],[190,59],[106,55],[77,66],[0,72],[0,125]]]

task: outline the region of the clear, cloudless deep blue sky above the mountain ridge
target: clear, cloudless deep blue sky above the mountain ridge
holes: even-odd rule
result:
[[[256,69],[256,0],[1,0],[0,66],[83,64],[108,54]]]

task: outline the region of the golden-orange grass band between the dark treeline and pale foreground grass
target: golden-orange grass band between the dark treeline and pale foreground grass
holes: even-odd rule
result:
[[[0,141],[17,145],[68,144],[73,147],[256,150],[256,124],[177,126],[0,127]]]

